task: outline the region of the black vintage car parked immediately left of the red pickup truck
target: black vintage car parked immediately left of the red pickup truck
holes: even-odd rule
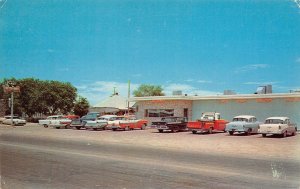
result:
[[[154,121],[152,125],[156,126],[157,130],[162,133],[163,131],[185,131],[187,130],[186,117],[163,117],[161,121]]]

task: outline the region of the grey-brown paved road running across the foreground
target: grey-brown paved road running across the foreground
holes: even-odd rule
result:
[[[1,134],[0,150],[3,189],[300,188],[300,161],[290,158],[183,153],[12,133]]]

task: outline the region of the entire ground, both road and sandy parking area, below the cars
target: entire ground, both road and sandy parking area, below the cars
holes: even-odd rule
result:
[[[300,135],[27,124],[0,136],[2,188],[300,188]]]

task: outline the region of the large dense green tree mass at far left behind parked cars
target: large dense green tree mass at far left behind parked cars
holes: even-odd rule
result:
[[[20,86],[21,92],[14,94],[14,112],[25,113],[29,117],[35,113],[67,114],[74,108],[77,89],[68,82],[41,81],[34,78],[21,80],[4,79],[0,84],[13,81]],[[1,86],[0,98],[8,102],[10,94],[4,94]],[[10,110],[7,110],[9,113]]]

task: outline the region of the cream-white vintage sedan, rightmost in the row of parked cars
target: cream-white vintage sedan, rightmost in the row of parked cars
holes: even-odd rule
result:
[[[286,137],[287,135],[296,135],[297,125],[290,122],[288,117],[269,117],[265,123],[260,124],[258,133],[266,137],[267,134],[280,135]]]

